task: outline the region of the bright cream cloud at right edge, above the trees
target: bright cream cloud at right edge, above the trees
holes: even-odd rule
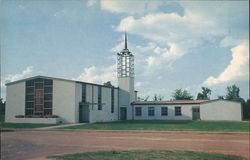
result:
[[[212,86],[230,81],[247,81],[249,78],[249,41],[231,49],[232,60],[218,77],[209,77],[203,85]]]

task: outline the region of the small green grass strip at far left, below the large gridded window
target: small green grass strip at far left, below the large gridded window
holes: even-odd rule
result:
[[[40,128],[40,127],[49,127],[55,126],[58,124],[33,124],[33,123],[4,123],[0,122],[1,128]]]

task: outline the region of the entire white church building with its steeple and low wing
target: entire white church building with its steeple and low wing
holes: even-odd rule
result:
[[[115,120],[242,120],[241,104],[226,100],[137,101],[134,55],[117,54],[118,87],[35,76],[6,84],[5,121],[81,123]]]

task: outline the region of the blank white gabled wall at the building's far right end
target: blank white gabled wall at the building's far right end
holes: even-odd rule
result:
[[[241,104],[225,100],[202,103],[200,107],[201,120],[242,120]]]

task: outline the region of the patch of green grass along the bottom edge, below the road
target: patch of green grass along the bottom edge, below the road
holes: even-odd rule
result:
[[[62,160],[244,160],[242,157],[189,151],[108,151],[50,156]]]

